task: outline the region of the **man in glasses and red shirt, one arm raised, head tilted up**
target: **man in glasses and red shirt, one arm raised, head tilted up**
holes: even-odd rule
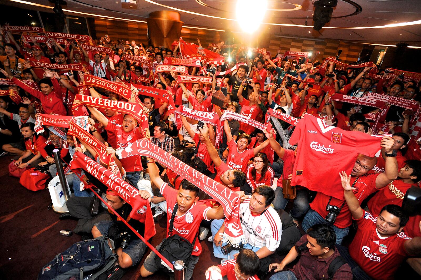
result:
[[[240,187],[245,183],[245,173],[237,170],[237,169],[230,169],[228,165],[218,155],[218,151],[216,151],[215,145],[212,144],[209,138],[209,128],[207,126],[203,126],[203,129],[200,128],[200,132],[202,133],[203,140],[206,143],[206,148],[208,149],[208,154],[212,159],[213,166],[216,169],[216,182],[230,188],[234,192],[239,192]]]

